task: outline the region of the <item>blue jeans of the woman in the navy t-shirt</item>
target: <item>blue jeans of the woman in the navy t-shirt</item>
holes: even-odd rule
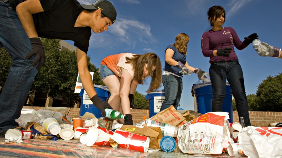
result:
[[[177,109],[183,89],[182,78],[175,75],[162,75],[162,83],[165,100],[160,107],[160,111],[169,108],[171,105]]]

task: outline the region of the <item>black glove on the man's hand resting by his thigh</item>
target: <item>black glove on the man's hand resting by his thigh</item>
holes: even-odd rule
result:
[[[32,50],[28,55],[25,57],[25,59],[30,59],[32,56],[35,55],[35,59],[32,63],[32,66],[36,66],[37,63],[39,62],[38,66],[36,69],[40,69],[44,63],[45,63],[45,52],[44,52],[44,47],[42,46],[41,40],[39,38],[29,38],[31,42],[31,47]]]

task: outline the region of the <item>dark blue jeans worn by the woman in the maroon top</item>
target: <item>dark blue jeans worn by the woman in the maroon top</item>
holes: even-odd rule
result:
[[[243,117],[245,125],[250,126],[243,71],[239,62],[237,60],[231,60],[211,63],[210,78],[213,87],[212,111],[222,111],[227,79],[236,102],[239,120],[240,117]]]

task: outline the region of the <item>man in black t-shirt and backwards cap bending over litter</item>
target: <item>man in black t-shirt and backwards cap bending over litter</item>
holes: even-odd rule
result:
[[[0,95],[0,134],[19,127],[15,119],[19,118],[32,81],[45,62],[39,37],[74,41],[83,87],[105,116],[104,109],[112,108],[94,90],[86,53],[91,30],[107,31],[115,19],[116,10],[106,0],[91,5],[76,0],[0,0],[0,48],[6,48],[13,62]]]

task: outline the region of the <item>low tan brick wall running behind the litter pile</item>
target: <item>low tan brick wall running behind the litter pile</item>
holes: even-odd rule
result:
[[[64,108],[64,107],[23,107],[25,109],[46,109],[60,111],[63,115],[68,114],[70,118],[77,118],[79,116],[80,108]],[[70,110],[70,111],[69,111]],[[149,110],[131,109],[133,116],[133,124],[136,124],[145,118],[149,118]],[[263,112],[263,111],[249,111],[250,121],[252,126],[268,126],[271,122],[282,122],[282,112]],[[238,112],[233,111],[233,122],[239,122]]]

